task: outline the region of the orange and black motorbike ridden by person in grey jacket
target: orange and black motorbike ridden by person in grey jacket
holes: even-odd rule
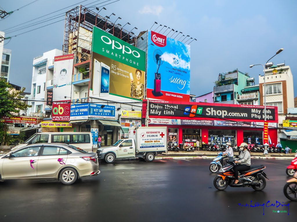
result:
[[[266,186],[266,173],[263,170],[266,168],[264,165],[252,166],[247,171],[242,171],[238,174],[238,184],[233,184],[235,177],[233,167],[237,165],[234,163],[232,157],[229,158],[227,164],[220,169],[219,175],[214,178],[214,187],[218,190],[224,190],[228,186],[232,187],[252,187],[254,190],[263,190]]]

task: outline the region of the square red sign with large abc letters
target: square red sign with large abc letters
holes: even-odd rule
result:
[[[53,102],[52,121],[69,121],[70,101]]]

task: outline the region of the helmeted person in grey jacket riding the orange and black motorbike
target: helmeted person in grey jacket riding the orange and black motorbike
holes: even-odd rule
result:
[[[234,160],[236,160],[234,163],[239,163],[233,167],[235,177],[234,184],[238,183],[238,171],[246,171],[251,168],[251,155],[247,147],[247,143],[240,144],[239,149],[241,150],[241,153],[239,158],[234,158]]]

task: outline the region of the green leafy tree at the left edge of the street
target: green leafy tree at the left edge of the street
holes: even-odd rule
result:
[[[0,80],[0,117],[1,116],[20,116],[20,110],[27,110],[28,105],[21,94],[25,91],[25,88],[21,90],[15,90],[13,87],[3,79]],[[0,142],[1,144],[8,144],[10,137],[7,134],[7,123],[0,123]]]

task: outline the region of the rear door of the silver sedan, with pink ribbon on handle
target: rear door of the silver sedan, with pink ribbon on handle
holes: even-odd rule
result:
[[[37,177],[54,177],[67,161],[68,150],[59,146],[43,146],[38,160]],[[58,161],[58,159],[63,159]]]

